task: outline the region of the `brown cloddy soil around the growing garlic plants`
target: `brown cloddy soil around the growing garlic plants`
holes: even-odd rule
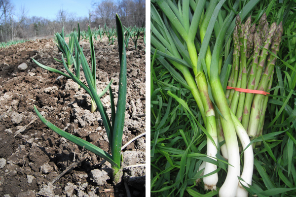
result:
[[[122,145],[145,132],[145,45],[143,38],[139,42],[139,49],[136,50],[132,42],[127,48],[128,87]],[[80,41],[80,44],[90,63],[88,40]],[[106,38],[94,41],[97,89],[101,92],[113,79],[111,88],[116,104],[120,70],[118,46],[116,41],[114,45],[108,44]],[[45,66],[66,72],[53,57],[61,60],[53,38],[28,41],[0,50],[0,197],[125,197],[123,181],[127,179],[122,179],[116,186],[108,179],[107,184],[99,186],[91,172],[108,168],[110,164],[101,164],[102,158],[62,138],[37,118],[33,104],[60,129],[111,153],[99,112],[91,114],[89,111],[90,96],[83,89],[78,90],[72,79],[59,77],[32,61],[34,58]],[[28,68],[18,68],[22,63],[26,63]],[[85,82],[83,72],[81,75]],[[109,92],[101,100],[111,116]],[[145,135],[129,144],[125,151],[141,153],[140,158],[133,159],[134,163],[129,164],[145,163]],[[67,167],[83,157],[86,159],[82,163],[53,185],[50,184]],[[138,176],[145,180],[143,172]],[[128,183],[131,195],[145,196],[145,183],[139,186],[139,182],[134,182]]]

